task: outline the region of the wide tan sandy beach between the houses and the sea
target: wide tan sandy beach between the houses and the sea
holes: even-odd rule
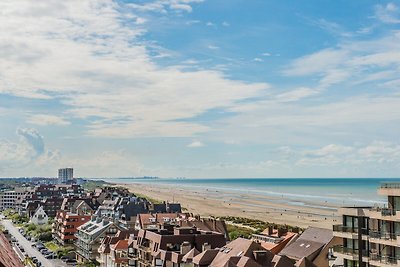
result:
[[[332,229],[333,224],[339,223],[338,207],[326,202],[298,205],[283,197],[234,194],[207,189],[188,190],[160,184],[119,184],[119,186],[160,201],[179,202],[187,212],[201,216],[246,217],[302,228],[315,226]]]

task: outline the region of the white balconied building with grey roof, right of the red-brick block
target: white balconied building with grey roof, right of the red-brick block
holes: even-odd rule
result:
[[[99,246],[106,236],[114,236],[121,228],[108,218],[93,215],[91,220],[79,226],[76,231],[76,253],[79,262],[96,260]]]

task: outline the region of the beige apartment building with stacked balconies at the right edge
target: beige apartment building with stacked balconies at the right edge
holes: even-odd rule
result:
[[[344,207],[342,224],[333,227],[341,245],[335,256],[344,267],[400,266],[400,183],[384,183],[378,194],[386,207]]]

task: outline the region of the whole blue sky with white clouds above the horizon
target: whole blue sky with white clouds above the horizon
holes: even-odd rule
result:
[[[400,1],[2,0],[0,177],[399,177]]]

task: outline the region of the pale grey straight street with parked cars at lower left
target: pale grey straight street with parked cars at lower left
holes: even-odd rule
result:
[[[48,260],[38,250],[32,247],[32,242],[28,241],[21,233],[18,228],[10,220],[2,220],[1,223],[8,230],[8,232],[15,237],[17,242],[25,249],[25,253],[29,257],[36,257],[45,267],[64,267],[67,266],[65,263],[59,260]]]

